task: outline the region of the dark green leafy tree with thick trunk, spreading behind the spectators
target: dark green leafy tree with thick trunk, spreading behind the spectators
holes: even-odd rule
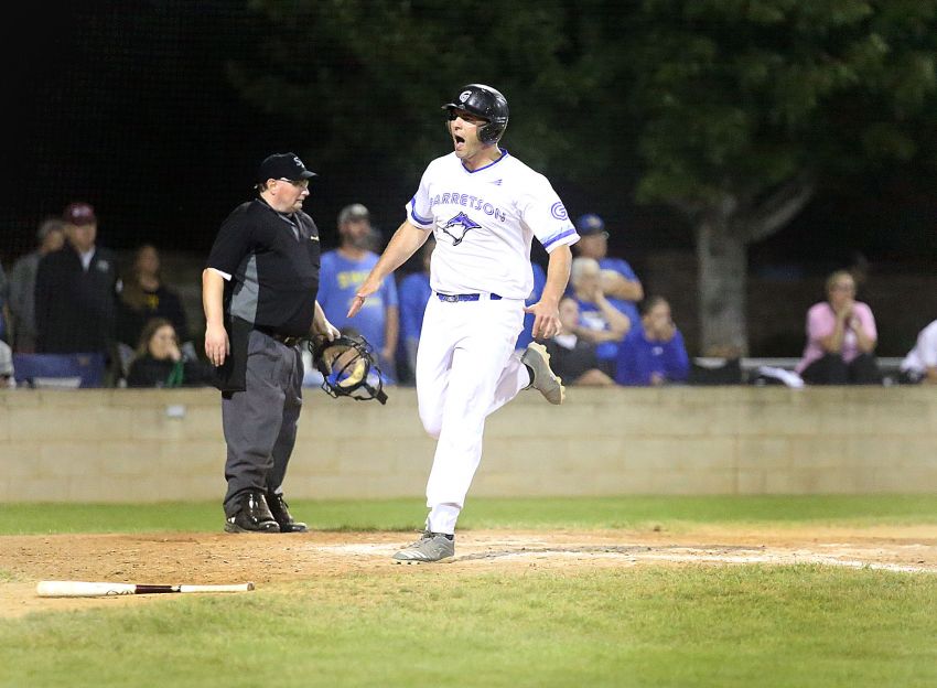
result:
[[[745,347],[745,249],[818,182],[926,159],[937,0],[255,0],[233,78],[324,158],[378,151],[416,178],[437,105],[502,89],[509,147],[606,196],[683,212],[704,345]]]

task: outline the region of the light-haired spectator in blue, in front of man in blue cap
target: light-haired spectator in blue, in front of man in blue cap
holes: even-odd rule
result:
[[[594,258],[580,256],[573,259],[570,283],[571,295],[579,307],[579,325],[574,334],[596,345],[599,369],[614,378],[618,345],[631,330],[631,321],[605,298],[602,270]]]

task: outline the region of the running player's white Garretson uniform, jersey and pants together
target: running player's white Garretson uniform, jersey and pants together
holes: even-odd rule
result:
[[[502,152],[474,171],[455,153],[433,160],[407,207],[437,240],[417,353],[420,419],[439,440],[427,484],[433,533],[454,533],[485,419],[530,383],[514,343],[534,287],[531,240],[548,252],[579,240],[547,178]]]

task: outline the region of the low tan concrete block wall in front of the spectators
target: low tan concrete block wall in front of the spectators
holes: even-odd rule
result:
[[[488,419],[473,495],[937,492],[937,389],[699,387],[536,393]],[[420,496],[434,442],[412,389],[306,390],[291,498]],[[0,393],[0,499],[219,499],[218,394]]]

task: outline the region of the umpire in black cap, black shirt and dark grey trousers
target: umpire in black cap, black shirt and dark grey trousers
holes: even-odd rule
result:
[[[258,197],[224,222],[202,272],[205,353],[227,443],[228,533],[308,530],[282,492],[302,405],[298,344],[311,332],[338,336],[315,300],[319,229],[302,211],[313,176],[293,153],[265,159]]]

